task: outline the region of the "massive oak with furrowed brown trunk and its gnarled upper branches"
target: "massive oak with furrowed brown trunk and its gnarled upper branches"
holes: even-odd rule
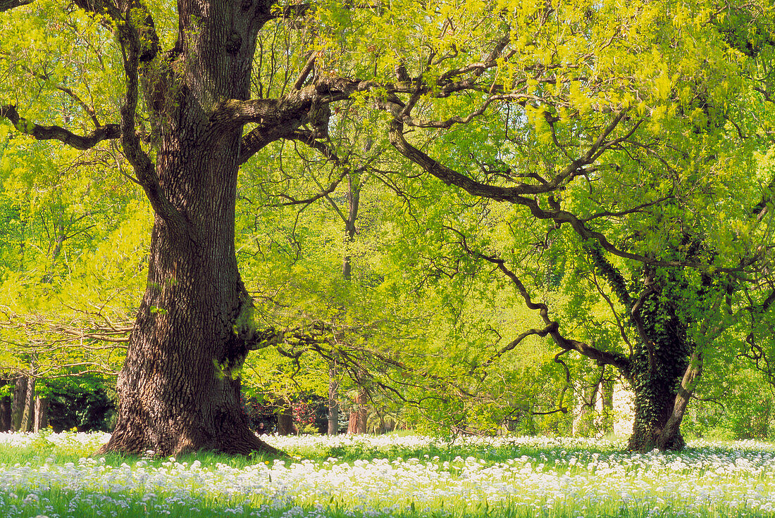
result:
[[[115,70],[123,94],[119,109],[108,113],[96,85],[79,90],[56,65],[31,69],[38,63],[7,57],[13,71],[74,101],[77,124],[92,129],[36,124],[10,103],[0,115],[36,139],[77,149],[118,140],[155,214],[147,289],[119,375],[118,423],[105,451],[272,449],[247,427],[236,375],[251,349],[274,338],[253,323],[253,303],[237,269],[236,175],[263,146],[294,136],[301,125],[324,131],[325,105],[363,90],[360,81],[341,77],[312,81],[312,67],[306,67],[282,95],[250,98],[261,29],[306,9],[263,1],[179,2],[168,49],[161,48],[164,39],[143,2],[36,2],[5,14],[33,12],[39,20],[57,14],[56,22],[82,36],[79,50],[102,73]],[[103,45],[113,53],[103,56]],[[81,74],[76,81],[94,72],[91,66],[74,63]],[[247,124],[253,127],[244,132]]]

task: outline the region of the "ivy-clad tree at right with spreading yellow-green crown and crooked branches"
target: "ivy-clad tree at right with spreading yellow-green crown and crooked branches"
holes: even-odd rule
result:
[[[463,249],[497,266],[542,314],[536,334],[632,382],[629,448],[639,451],[683,446],[680,421],[704,355],[750,307],[752,290],[771,293],[761,282],[769,227],[756,207],[770,203],[772,177],[752,154],[763,96],[748,81],[748,57],[718,30],[734,9],[652,7],[532,6],[504,20],[508,36],[494,53],[466,47],[485,56],[477,65],[455,49],[446,73],[429,74],[429,50],[408,67],[406,91],[384,100],[391,143],[408,160],[471,195],[524,208],[520,221],[551,222],[543,243],[562,235],[566,254],[586,256],[593,282],[581,289],[611,304],[624,352],[568,338],[532,298],[513,252],[460,235]],[[449,26],[469,27],[464,15]],[[470,100],[455,95],[463,84],[484,102],[461,108]],[[736,103],[740,92],[746,100]],[[743,170],[753,181],[740,183]]]

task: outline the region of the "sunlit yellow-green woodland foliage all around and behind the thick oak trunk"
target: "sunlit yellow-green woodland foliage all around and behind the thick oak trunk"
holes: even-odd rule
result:
[[[343,98],[325,132],[310,119],[241,166],[236,258],[250,324],[273,330],[237,373],[247,405],[284,431],[315,403],[337,431],[602,434],[610,420],[593,426],[585,403],[632,383],[622,358],[653,355],[642,336],[681,328],[686,350],[667,363],[702,352],[684,432],[771,437],[771,8],[595,5],[513,8],[514,21],[477,2],[426,6],[425,19],[333,2],[263,29],[261,98],[291,91],[310,57],[319,77],[389,77],[393,91]],[[26,24],[0,18],[0,425],[34,427],[33,395],[45,407],[80,394],[71,427],[86,427],[86,409],[113,397],[148,288],[154,212],[119,142],[72,149],[24,122],[86,129],[118,112],[115,41],[82,10],[19,9]],[[164,29],[171,6],[148,9]],[[504,26],[492,63],[466,69]],[[463,74],[486,87],[445,82]],[[435,90],[412,87],[427,77]],[[386,129],[391,95],[417,106],[402,134],[439,161]],[[441,161],[478,184],[443,177]],[[531,181],[557,186],[498,191]],[[557,347],[539,302],[572,347]],[[653,325],[639,321],[648,304]],[[591,348],[594,361],[577,354]]]

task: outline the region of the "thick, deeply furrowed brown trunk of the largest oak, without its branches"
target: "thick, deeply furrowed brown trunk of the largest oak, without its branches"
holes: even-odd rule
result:
[[[146,293],[116,387],[115,431],[102,451],[276,453],[250,430],[240,403],[239,371],[260,333],[234,247],[243,128],[222,109],[250,98],[256,36],[271,18],[270,2],[179,0],[177,14],[171,58],[158,55],[159,63],[140,69],[155,164],[138,150],[134,123],[122,128],[156,218]],[[164,69],[166,59],[174,67]],[[157,64],[167,72],[157,73]],[[125,122],[133,121],[129,110],[122,108]]]

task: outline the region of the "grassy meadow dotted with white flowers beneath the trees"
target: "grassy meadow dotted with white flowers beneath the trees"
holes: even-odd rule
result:
[[[775,445],[680,453],[546,437],[269,436],[289,458],[91,456],[0,434],[0,516],[775,516]]]

